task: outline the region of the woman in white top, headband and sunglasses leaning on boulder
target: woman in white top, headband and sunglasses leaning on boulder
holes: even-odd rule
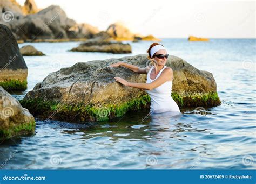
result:
[[[171,97],[173,73],[171,68],[165,66],[169,56],[166,49],[161,44],[153,43],[147,50],[147,53],[149,53],[149,59],[154,61],[154,66],[139,68],[124,62],[117,62],[110,65],[111,67],[124,66],[133,72],[147,74],[146,83],[127,82],[120,77],[114,77],[114,79],[124,86],[144,89],[151,97],[151,113],[167,111],[180,112],[177,103]]]

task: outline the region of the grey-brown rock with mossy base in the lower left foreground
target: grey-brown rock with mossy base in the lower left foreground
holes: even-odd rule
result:
[[[35,119],[28,109],[0,86],[0,141],[35,132]]]

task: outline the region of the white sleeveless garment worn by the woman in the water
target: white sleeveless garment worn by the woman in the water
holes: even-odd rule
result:
[[[154,80],[156,80],[161,75],[161,73],[166,68],[166,66],[164,66],[160,70],[156,79],[150,79],[150,74],[153,68],[154,66],[151,67],[149,72],[147,73],[146,83],[151,83]],[[157,88],[154,88],[152,90],[145,90],[145,91],[147,92],[147,94],[149,94],[151,98],[151,105],[150,105],[151,113],[161,113],[166,111],[180,112],[177,103],[172,99],[172,96],[171,96],[172,81],[166,81],[165,83],[161,84],[161,86],[158,86]]]

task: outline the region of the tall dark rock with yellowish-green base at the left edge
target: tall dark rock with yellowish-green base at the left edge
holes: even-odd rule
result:
[[[2,24],[0,24],[0,73],[0,86],[4,89],[26,89],[28,68],[13,34]]]

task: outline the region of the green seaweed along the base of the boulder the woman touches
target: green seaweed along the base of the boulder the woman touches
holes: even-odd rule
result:
[[[215,106],[220,104],[218,94],[211,93],[172,93],[172,98],[179,107]],[[145,94],[119,104],[107,104],[96,107],[94,104],[64,104],[45,101],[41,98],[23,99],[21,105],[30,113],[42,119],[59,119],[64,121],[105,121],[123,116],[127,111],[149,108],[150,96]]]

